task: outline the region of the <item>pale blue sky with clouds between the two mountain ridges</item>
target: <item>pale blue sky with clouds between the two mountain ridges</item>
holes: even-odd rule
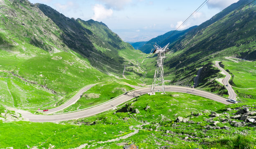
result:
[[[125,42],[148,41],[176,30],[205,0],[29,0],[65,16],[105,23]],[[238,0],[209,0],[179,30],[200,25]]]

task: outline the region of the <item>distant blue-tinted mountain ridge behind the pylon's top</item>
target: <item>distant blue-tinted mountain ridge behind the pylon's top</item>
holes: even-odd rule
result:
[[[142,47],[140,47],[139,50],[141,50],[144,53],[150,53],[151,50],[154,49],[155,43],[160,45],[160,47],[164,47],[168,43],[170,43],[170,45],[173,45],[179,38],[183,37],[187,32],[194,29],[195,27],[197,26],[193,26],[182,31],[166,32],[164,35],[160,35],[149,40]]]

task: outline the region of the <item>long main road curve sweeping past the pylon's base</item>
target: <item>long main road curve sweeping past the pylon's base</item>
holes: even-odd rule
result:
[[[59,121],[65,121],[70,119],[79,119],[83,117],[90,117],[95,114],[99,114],[105,111],[108,111],[110,109],[113,109],[114,107],[117,107],[118,105],[127,102],[134,97],[140,96],[142,94],[147,94],[150,92],[151,87],[136,89],[131,92],[128,92],[127,94],[123,94],[119,96],[118,98],[115,98],[109,102],[106,102],[105,104],[101,104],[97,107],[92,107],[90,109],[85,109],[78,112],[72,112],[72,113],[65,113],[65,114],[56,114],[56,115],[36,115],[36,114],[22,114],[22,116],[26,119],[28,119],[31,122],[59,122]],[[155,89],[161,89],[161,87],[155,87]],[[212,94],[210,92],[205,92],[198,89],[193,89],[189,87],[179,87],[179,86],[166,86],[165,87],[166,92],[182,92],[182,93],[188,93],[188,94],[195,94],[201,97],[205,97],[208,99],[215,100],[217,102],[221,102],[223,104],[231,104],[230,102],[227,102],[225,98],[220,97],[216,94]],[[153,95],[154,96],[154,95]],[[50,109],[51,110],[51,109]]]

